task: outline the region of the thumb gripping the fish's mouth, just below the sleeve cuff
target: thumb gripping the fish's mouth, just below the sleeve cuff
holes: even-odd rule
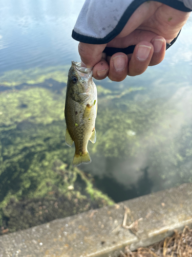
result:
[[[81,57],[81,61],[86,64],[88,68],[91,68],[97,64],[102,58],[102,52],[106,44],[92,45],[86,43],[79,43],[78,50]]]

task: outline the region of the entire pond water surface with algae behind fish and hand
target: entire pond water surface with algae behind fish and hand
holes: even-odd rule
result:
[[[36,224],[50,221],[42,203],[53,204],[52,212],[63,195],[68,204],[73,202],[73,214],[113,203],[107,196],[100,198],[92,184],[121,201],[192,182],[191,19],[158,66],[120,83],[95,81],[99,104],[97,142],[88,145],[92,163],[80,166],[87,176],[71,171],[74,146],[65,144],[63,107],[71,60],[79,61],[71,31],[83,2],[0,0],[4,223],[14,217],[15,206],[32,203]]]

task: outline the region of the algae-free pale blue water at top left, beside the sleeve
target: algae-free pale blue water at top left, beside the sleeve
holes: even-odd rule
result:
[[[0,1],[0,72],[77,60],[71,33],[83,2]]]

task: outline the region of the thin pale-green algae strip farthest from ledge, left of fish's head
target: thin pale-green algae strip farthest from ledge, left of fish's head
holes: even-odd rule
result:
[[[0,76],[0,85],[17,86],[20,84],[38,84],[45,80],[53,79],[58,82],[67,83],[68,70],[70,66],[53,66],[47,68],[31,68],[27,70],[6,71]]]

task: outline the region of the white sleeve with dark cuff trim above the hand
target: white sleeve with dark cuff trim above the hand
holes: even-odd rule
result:
[[[72,38],[88,44],[105,44],[118,35],[134,11],[147,0],[86,0]],[[177,10],[190,12],[192,0],[158,0]]]

